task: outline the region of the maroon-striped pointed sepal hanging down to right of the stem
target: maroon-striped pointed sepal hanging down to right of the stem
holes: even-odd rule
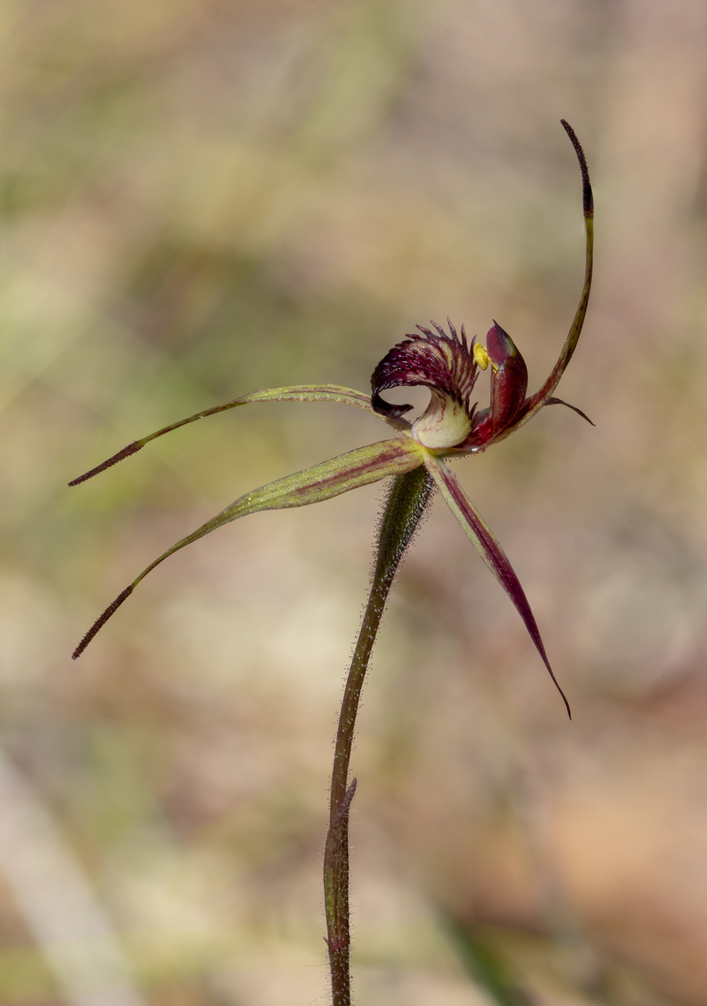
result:
[[[562,696],[564,704],[567,707],[567,713],[571,719],[572,714],[569,710],[569,703],[565,698],[564,692],[557,683],[555,675],[552,673],[552,668],[550,667],[550,663],[547,659],[545,647],[543,646],[542,639],[540,638],[540,632],[538,631],[533,613],[530,610],[528,599],[525,596],[523,588],[520,585],[518,577],[513,571],[511,563],[508,561],[506,553],[450,469],[438,458],[435,458],[430,454],[426,455],[424,463],[427,471],[434,480],[435,485],[439,489],[439,492],[445,497],[448,506],[466,531],[467,536],[472,541],[472,544],[484,559],[489,569],[491,569],[494,576],[496,576],[513,604],[516,606],[518,614],[525,623],[525,627],[528,630],[530,638],[533,643],[535,643],[537,651],[542,657],[545,667],[550,672],[550,677],[554,681],[557,690]]]

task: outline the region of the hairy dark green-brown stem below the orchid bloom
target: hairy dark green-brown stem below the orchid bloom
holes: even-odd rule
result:
[[[388,591],[433,492],[423,467],[396,476],[378,531],[371,593],[356,643],[336,734],[329,833],[324,853],[324,900],[333,1006],[350,1006],[349,980],[349,810],[356,780],[348,785],[349,760],[361,687],[380,625]]]

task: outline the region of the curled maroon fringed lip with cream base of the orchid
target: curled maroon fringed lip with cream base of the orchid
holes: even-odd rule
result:
[[[412,425],[412,436],[424,447],[439,449],[464,443],[472,430],[470,396],[477,378],[472,344],[462,326],[459,335],[448,318],[450,335],[417,326],[421,335],[408,335],[383,357],[371,377],[371,402],[381,415],[398,417],[412,405],[393,405],[381,398],[391,387],[424,385],[431,391],[427,408]]]

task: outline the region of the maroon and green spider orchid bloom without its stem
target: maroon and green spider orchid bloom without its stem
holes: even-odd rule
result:
[[[389,476],[404,475],[423,467],[429,477],[430,486],[433,484],[439,491],[462,528],[518,610],[569,713],[569,705],[550,667],[523,588],[503,548],[446,463],[447,459],[479,454],[493,444],[505,440],[545,405],[566,404],[554,397],[553,391],[574,352],[586,313],[591,285],[593,203],[583,151],[568,123],[562,120],[562,125],[574,146],[582,173],[586,269],[584,286],[572,326],[559,359],[542,387],[534,394],[526,394],[528,370],[525,361],[510,335],[496,322],[487,333],[484,346],[476,337],[469,341],[464,326],[461,334],[458,334],[448,318],[449,334],[434,322],[432,322],[434,331],[417,326],[418,335],[407,336],[383,357],[373,371],[370,396],[363,391],[335,384],[268,388],[197,412],[128,445],[102,465],[69,482],[69,485],[75,486],[84,482],[140,451],[150,441],[179,427],[228,408],[254,402],[340,402],[370,412],[394,432],[394,436],[387,440],[349,451],[331,461],[315,465],[304,472],[289,475],[246,493],[197,530],[177,541],[151,562],[106,609],[74,650],[74,659],[83,652],[94,636],[133,593],[138,583],[155,566],[185,545],[232,520],[259,510],[279,510],[320,503],[359,486]],[[491,401],[488,408],[478,411],[477,403],[471,403],[472,393],[479,370],[486,370],[489,366],[492,370]],[[381,397],[381,392],[401,385],[423,385],[430,391],[429,404],[412,424],[403,417],[412,405],[390,404]],[[573,405],[568,407],[573,408],[587,422],[591,422],[580,409]]]

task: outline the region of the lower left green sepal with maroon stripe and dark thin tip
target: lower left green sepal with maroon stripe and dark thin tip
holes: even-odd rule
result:
[[[331,461],[315,465],[314,468],[308,468],[304,472],[288,475],[284,479],[278,479],[277,482],[271,482],[267,486],[246,493],[225,510],[221,510],[211,520],[202,524],[196,531],[172,545],[159,558],[151,562],[146,569],[143,569],[140,575],[126,588],[92,626],[73,651],[73,659],[75,660],[81,655],[94,636],[118,611],[123,602],[130,597],[140,580],[173,552],[179,551],[180,548],[191,544],[192,541],[203,538],[205,534],[215,531],[217,527],[237,520],[238,517],[246,517],[259,510],[283,510],[288,507],[307,506],[309,503],[320,503],[322,500],[331,499],[332,496],[346,493],[350,489],[358,489],[359,486],[378,482],[388,475],[401,475],[404,472],[410,472],[423,463],[423,449],[409,437],[381,441],[378,444],[371,444],[369,447],[349,451],[348,454],[339,455],[338,458],[332,458]]]

